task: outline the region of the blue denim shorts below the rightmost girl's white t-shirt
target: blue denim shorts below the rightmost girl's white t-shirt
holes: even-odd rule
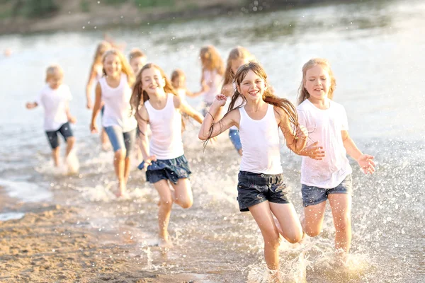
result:
[[[326,202],[329,194],[351,194],[352,187],[351,174],[347,175],[341,184],[331,189],[322,189],[321,187],[302,184],[302,205],[308,207],[309,205]]]

